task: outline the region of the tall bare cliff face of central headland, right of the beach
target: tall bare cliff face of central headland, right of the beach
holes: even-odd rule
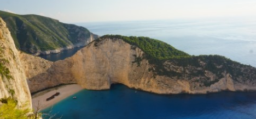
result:
[[[147,54],[135,47],[121,39],[102,39],[91,43],[66,61],[74,62],[71,72],[77,83],[85,89],[109,89],[112,83],[164,94],[256,89],[256,70],[251,66],[226,63],[231,72],[212,63],[214,60],[210,58],[194,58],[197,64],[202,64],[198,66],[194,66],[195,62],[182,66],[177,60],[167,60],[161,64],[165,68],[164,74],[161,71],[164,69],[156,71],[156,64],[150,63]],[[208,65],[218,68],[218,72],[208,68]]]

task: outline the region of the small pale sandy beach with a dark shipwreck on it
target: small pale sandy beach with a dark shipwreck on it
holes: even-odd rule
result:
[[[67,98],[68,96],[73,95],[74,93],[80,90],[83,90],[83,88],[80,85],[71,84],[71,85],[57,86],[48,90],[40,91],[32,95],[32,107],[35,111],[37,109],[38,101],[39,101],[39,110],[51,107],[55,103],[61,101],[62,99]],[[46,98],[51,97],[56,92],[60,92],[60,95],[55,96],[55,98],[51,99],[50,101],[46,101]]]

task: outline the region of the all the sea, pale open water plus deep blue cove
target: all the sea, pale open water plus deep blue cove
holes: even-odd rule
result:
[[[256,67],[256,19],[205,18],[75,23],[103,36],[146,36],[191,55],[218,54]],[[57,61],[79,48],[45,56]],[[77,99],[72,97],[76,96]],[[110,90],[82,90],[42,110],[55,118],[256,118],[256,92],[156,95],[114,84]],[[49,118],[44,116],[44,118]]]

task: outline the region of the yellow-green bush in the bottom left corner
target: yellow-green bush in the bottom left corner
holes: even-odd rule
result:
[[[30,114],[31,110],[24,107],[19,108],[17,101],[13,98],[2,98],[0,99],[2,104],[0,104],[0,118],[5,119],[37,119],[40,114]]]

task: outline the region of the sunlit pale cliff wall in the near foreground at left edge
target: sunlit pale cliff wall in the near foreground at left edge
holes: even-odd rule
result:
[[[31,107],[30,90],[19,53],[5,22],[0,18],[0,98],[13,97]]]

